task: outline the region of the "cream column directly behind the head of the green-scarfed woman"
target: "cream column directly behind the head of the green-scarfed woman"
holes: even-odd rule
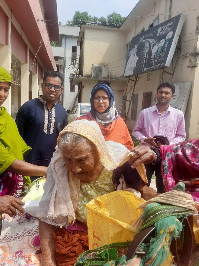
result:
[[[0,66],[5,68],[10,73],[11,53],[8,45],[0,45]],[[7,112],[11,115],[11,89],[8,98],[3,103],[3,106],[6,107]]]

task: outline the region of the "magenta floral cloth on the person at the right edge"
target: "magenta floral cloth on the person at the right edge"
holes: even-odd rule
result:
[[[185,183],[185,192],[199,201],[199,139],[160,146],[159,150],[165,191],[171,191],[181,181]]]

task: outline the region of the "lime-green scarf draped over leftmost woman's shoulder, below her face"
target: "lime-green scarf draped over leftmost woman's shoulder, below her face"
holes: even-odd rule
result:
[[[0,107],[0,174],[3,173],[15,159],[24,161],[25,155],[31,151],[19,135],[17,126],[5,107]],[[29,177],[24,177],[31,184]]]

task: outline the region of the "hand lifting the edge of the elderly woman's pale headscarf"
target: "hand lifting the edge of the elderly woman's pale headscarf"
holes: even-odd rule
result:
[[[131,152],[135,152],[135,154],[129,159],[129,163],[132,168],[136,168],[141,163],[154,163],[156,160],[155,152],[146,146],[136,146],[131,150]]]

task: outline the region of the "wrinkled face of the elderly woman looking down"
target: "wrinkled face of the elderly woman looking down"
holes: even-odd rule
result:
[[[91,182],[97,179],[102,171],[98,151],[92,151],[84,142],[77,145],[66,146],[62,149],[66,169],[76,176],[81,182]]]

